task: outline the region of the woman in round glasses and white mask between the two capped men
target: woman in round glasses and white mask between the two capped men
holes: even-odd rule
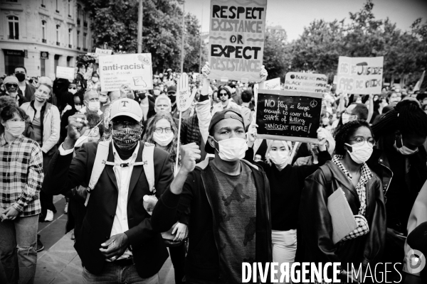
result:
[[[170,114],[156,114],[148,121],[147,131],[145,131],[142,143],[153,143],[156,145],[156,147],[167,151],[170,154],[172,170],[174,172],[177,141],[178,129],[176,129],[176,124],[174,123],[174,120]],[[180,167],[181,163],[178,163],[178,165]],[[178,173],[178,171],[176,171],[175,174],[176,173]],[[184,216],[178,219],[181,222],[186,222],[183,221],[185,219]],[[176,232],[174,241],[181,241],[182,239],[186,238],[188,234],[188,226],[181,222],[178,222],[174,231],[172,231],[172,234]],[[182,278],[184,278],[185,275],[185,246],[183,244],[181,246],[169,247],[169,252],[171,254],[172,264],[174,265],[175,283],[183,283]]]

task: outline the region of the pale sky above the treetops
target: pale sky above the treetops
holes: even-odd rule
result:
[[[202,32],[209,32],[210,0],[186,0],[185,10],[202,23]],[[288,40],[296,40],[315,19],[341,21],[349,12],[362,9],[365,0],[268,0],[268,26],[282,26]],[[202,13],[203,11],[203,13]],[[389,17],[402,31],[409,31],[416,18],[427,21],[427,0],[374,0],[376,19]]]

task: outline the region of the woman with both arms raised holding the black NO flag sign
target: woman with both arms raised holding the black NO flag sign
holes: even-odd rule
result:
[[[245,160],[253,162],[253,143],[256,129],[249,129],[248,151]],[[297,212],[304,180],[321,165],[331,159],[326,148],[324,131],[317,131],[319,147],[317,165],[290,165],[291,149],[286,141],[267,141],[266,162],[257,162],[267,175],[270,182],[271,195],[271,228],[273,239],[273,262],[289,263],[295,261],[297,251]],[[280,279],[280,273],[278,278]]]

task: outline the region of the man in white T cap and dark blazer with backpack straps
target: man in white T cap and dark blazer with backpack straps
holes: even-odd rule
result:
[[[106,278],[121,279],[120,283],[158,283],[159,270],[169,256],[161,234],[152,229],[143,197],[159,198],[167,190],[173,179],[172,164],[169,153],[154,148],[153,160],[147,160],[154,166],[155,190],[151,192],[139,163],[147,147],[140,142],[142,116],[142,109],[132,99],[119,99],[111,105],[107,162],[112,165],[105,165],[90,191],[83,226],[75,233],[75,250],[85,268],[84,283],[101,283]],[[73,158],[75,142],[85,127],[83,114],[68,119],[67,138],[46,170],[46,192],[59,195],[89,185],[94,168],[99,167],[95,157],[101,145],[83,143]]]

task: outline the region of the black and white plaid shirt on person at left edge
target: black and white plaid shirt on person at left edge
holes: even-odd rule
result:
[[[43,154],[38,143],[21,135],[9,144],[3,133],[0,157],[0,207],[13,206],[21,217],[39,214]]]

